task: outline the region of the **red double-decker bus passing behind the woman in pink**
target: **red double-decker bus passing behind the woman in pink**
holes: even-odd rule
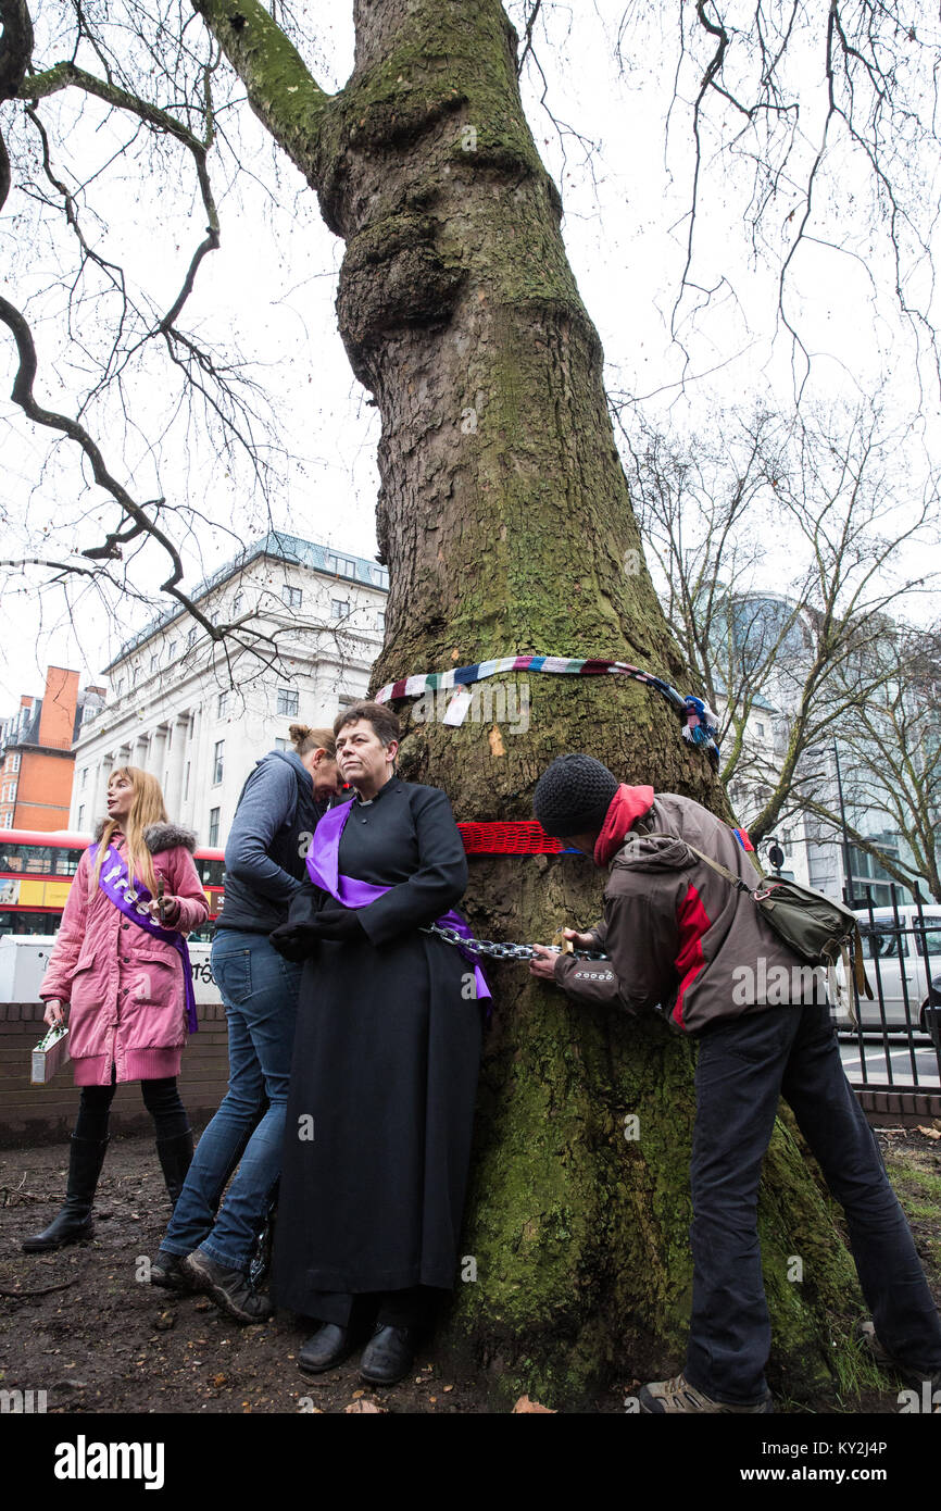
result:
[[[88,834],[56,830],[0,830],[0,935],[56,934],[68,888]],[[222,910],[225,890],[224,852],[198,849],[193,860],[208,899],[210,923]],[[210,923],[193,929],[190,940],[210,937]]]

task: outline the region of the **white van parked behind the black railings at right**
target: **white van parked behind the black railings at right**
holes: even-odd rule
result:
[[[873,908],[856,913],[862,935],[862,959],[865,975],[873,988],[873,1000],[859,999],[859,1023],[862,1027],[881,1027],[879,988],[885,1005],[885,1021],[890,1027],[924,1029],[920,1021],[932,978],[941,975],[941,908],[923,904],[921,916],[912,904],[899,907],[899,925],[893,908]],[[924,937],[920,922],[924,920]],[[884,925],[881,928],[879,925]],[[927,958],[924,946],[927,944]],[[903,984],[905,982],[905,990]],[[908,996],[908,1012],[906,1012]]]

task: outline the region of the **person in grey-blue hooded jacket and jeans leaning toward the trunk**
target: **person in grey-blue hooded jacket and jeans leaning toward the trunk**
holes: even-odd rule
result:
[[[284,959],[267,935],[287,919],[313,831],[340,790],[332,733],[292,724],[290,737],[293,751],[272,751],[251,772],[225,846],[225,904],[211,966],[228,1021],[228,1091],[199,1139],[151,1265],[154,1284],[204,1290],[239,1322],[270,1313],[248,1269],[281,1173],[301,987],[301,966]]]

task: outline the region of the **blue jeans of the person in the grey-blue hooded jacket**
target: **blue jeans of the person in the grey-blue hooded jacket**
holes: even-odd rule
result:
[[[201,1248],[227,1269],[248,1271],[281,1174],[302,967],[282,959],[266,934],[242,929],[216,932],[211,967],[228,1021],[228,1091],[196,1145],[160,1251],[190,1254]],[[264,1097],[269,1106],[260,1118]]]

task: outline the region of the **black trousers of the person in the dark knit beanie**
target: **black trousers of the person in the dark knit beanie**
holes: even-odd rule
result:
[[[879,1340],[930,1377],[941,1369],[941,1321],[911,1230],[843,1071],[829,1009],[805,1003],[763,1008],[699,1040],[686,1378],[733,1405],[757,1402],[767,1390],[770,1322],[757,1209],[779,1095],[843,1206]]]

